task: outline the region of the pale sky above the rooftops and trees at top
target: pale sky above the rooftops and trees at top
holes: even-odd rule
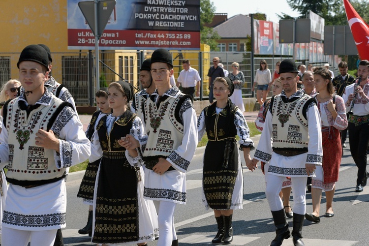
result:
[[[237,14],[264,13],[267,21],[279,22],[276,13],[286,13],[292,17],[300,14],[293,11],[286,0],[211,0],[215,13],[228,13],[228,18]]]

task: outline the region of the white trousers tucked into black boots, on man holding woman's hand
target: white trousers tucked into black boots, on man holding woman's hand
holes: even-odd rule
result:
[[[279,192],[282,189],[285,177],[277,176],[271,173],[265,174],[267,187],[265,194],[271,211],[279,211],[283,209],[282,199],[279,197]],[[291,177],[292,193],[293,193],[293,213],[305,215],[306,213],[306,182],[307,177]]]

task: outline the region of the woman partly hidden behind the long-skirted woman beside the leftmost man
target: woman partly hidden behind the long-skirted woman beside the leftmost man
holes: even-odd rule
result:
[[[112,112],[112,109],[109,107],[108,103],[108,89],[102,88],[95,93],[96,105],[99,110],[95,111],[92,114],[92,118],[89,126],[87,127],[86,137],[91,141],[92,134],[96,130],[96,125],[100,121],[100,119],[108,115]],[[79,234],[89,234],[92,235],[92,202],[93,202],[93,191],[95,187],[96,174],[99,167],[100,159],[97,159],[94,162],[90,162],[87,164],[85,175],[82,178],[81,185],[79,187],[79,191],[77,193],[77,197],[81,197],[83,199],[83,203],[89,205],[89,217],[87,220],[87,225],[78,230]]]

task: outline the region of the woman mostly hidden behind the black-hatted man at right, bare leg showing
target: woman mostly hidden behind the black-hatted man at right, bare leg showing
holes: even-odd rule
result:
[[[278,65],[278,71],[279,71],[278,62],[277,62],[277,65]],[[280,78],[277,78],[273,82],[273,95],[278,95],[282,93],[282,90],[283,88],[282,88],[282,83],[280,82]],[[269,110],[270,101],[271,100],[269,99],[263,103],[263,105],[260,107],[259,114],[257,115],[257,118],[255,120],[256,129],[258,129],[260,132],[263,130],[263,127],[264,127],[265,117],[267,116],[267,112]],[[266,164],[264,161],[261,161],[261,171],[263,172],[263,174],[265,174],[264,170],[268,170],[268,168],[269,168],[269,164]],[[290,206],[291,187],[292,187],[291,178],[286,177],[282,184],[282,190],[279,193],[279,196],[283,200],[283,207],[284,207],[287,218],[293,217],[292,208]]]

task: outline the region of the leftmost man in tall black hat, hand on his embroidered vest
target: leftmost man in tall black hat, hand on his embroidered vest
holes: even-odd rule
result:
[[[3,246],[53,245],[65,227],[66,169],[91,154],[90,141],[73,106],[47,91],[48,54],[23,49],[19,97],[4,104],[0,168],[8,164],[9,188],[2,218]]]

